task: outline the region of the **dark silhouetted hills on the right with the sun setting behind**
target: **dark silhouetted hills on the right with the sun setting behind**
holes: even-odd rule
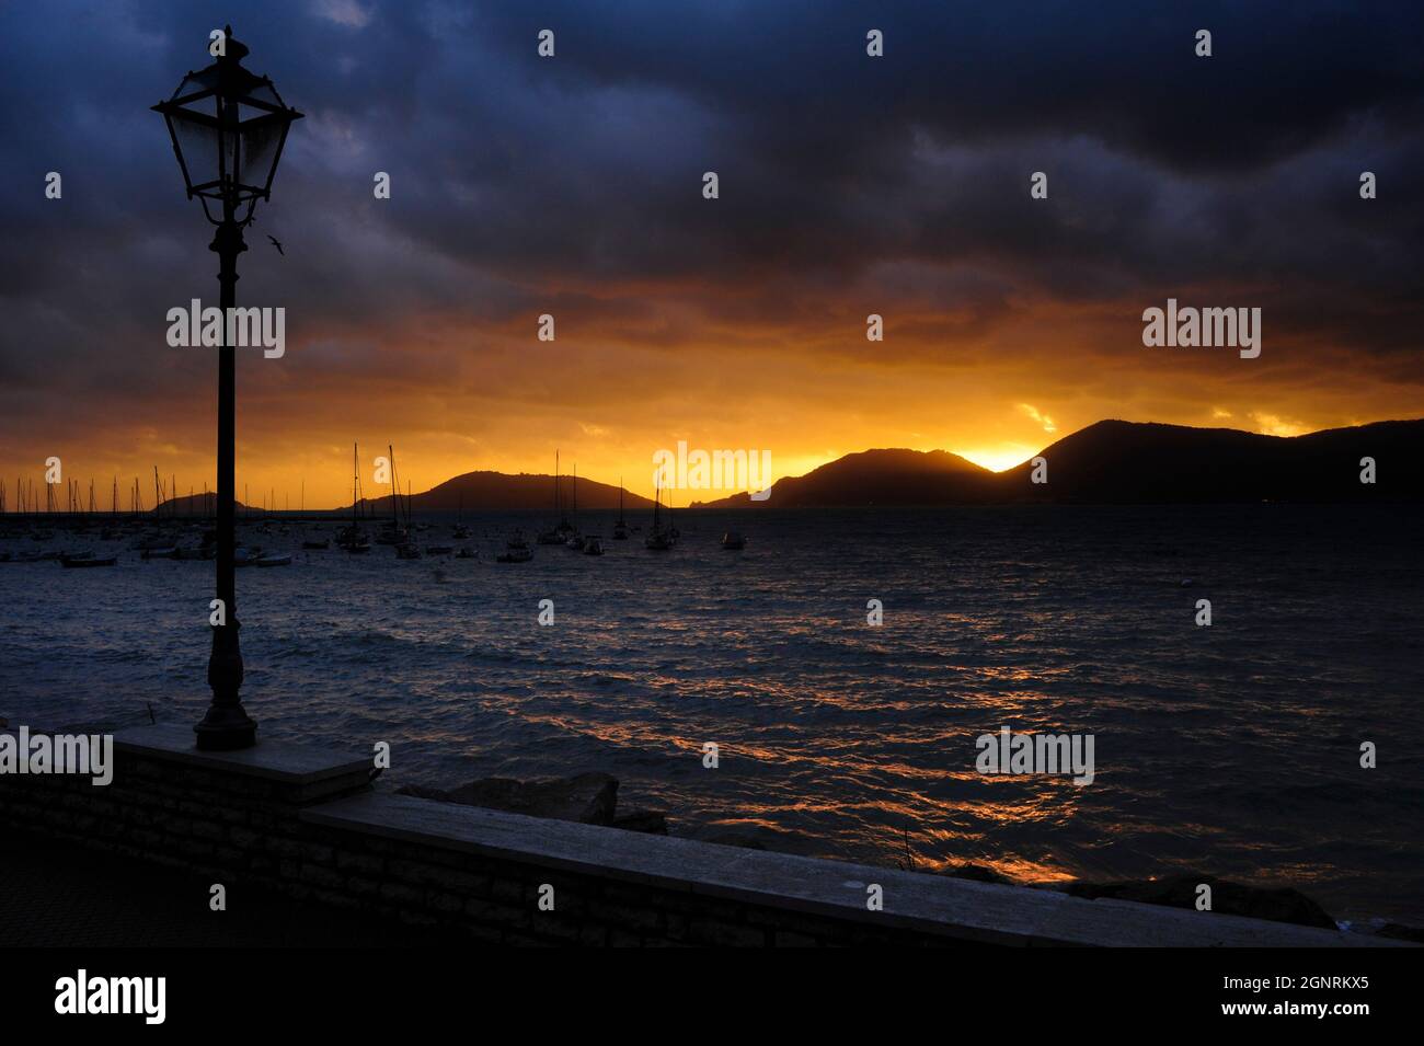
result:
[[[944,451],[847,454],[797,478],[778,480],[766,501],[739,494],[708,508],[951,505],[1051,502],[1418,501],[1424,498],[1424,420],[1377,421],[1310,435],[1099,421],[1040,451],[1034,464],[990,472]],[[1376,482],[1360,482],[1374,458]]]

